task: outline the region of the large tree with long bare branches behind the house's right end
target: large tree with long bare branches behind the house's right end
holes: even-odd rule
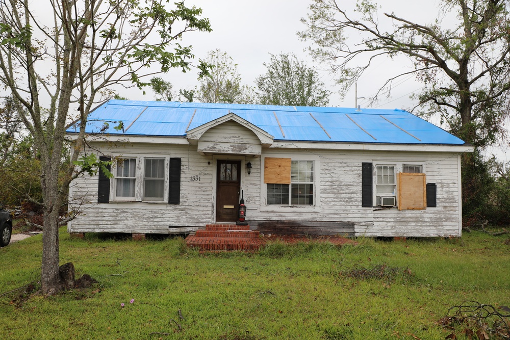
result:
[[[381,16],[370,0],[358,2],[354,16],[336,0],[314,0],[308,18],[302,19],[308,29],[299,35],[315,44],[313,56],[329,64],[344,90],[377,57],[407,57],[414,67],[392,75],[378,94],[391,90],[399,77],[413,74],[424,84],[416,96],[422,114],[439,113],[452,133],[477,147],[486,146],[501,136],[509,113],[508,2],[440,4],[439,19],[417,23],[394,13]],[[386,31],[379,18],[390,19],[393,28]]]

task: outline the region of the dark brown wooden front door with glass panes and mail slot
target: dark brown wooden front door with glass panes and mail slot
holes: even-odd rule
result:
[[[218,161],[216,174],[216,222],[237,222],[241,161]]]

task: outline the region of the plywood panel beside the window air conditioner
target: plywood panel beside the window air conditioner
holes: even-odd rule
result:
[[[398,173],[398,210],[423,210],[427,206],[424,173]]]

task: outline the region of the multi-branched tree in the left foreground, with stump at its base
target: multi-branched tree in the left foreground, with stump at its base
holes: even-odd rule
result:
[[[19,118],[40,157],[44,214],[41,292],[56,294],[59,279],[59,208],[79,173],[106,173],[85,145],[87,116],[114,86],[142,88],[143,76],[191,67],[191,47],[177,41],[190,31],[211,31],[201,9],[164,0],[39,1],[53,17],[40,15],[29,0],[0,4],[0,81],[12,93]],[[39,10],[39,12],[38,12]],[[37,13],[37,15],[36,15]],[[171,30],[174,33],[171,33]],[[155,67],[159,65],[158,69]],[[150,68],[150,73],[148,71]],[[206,63],[197,66],[207,73]],[[78,110],[78,111],[77,111]],[[77,118],[74,152],[65,162],[67,123]],[[87,162],[85,162],[87,161]],[[63,173],[59,176],[59,171]],[[111,175],[111,174],[110,174]]]

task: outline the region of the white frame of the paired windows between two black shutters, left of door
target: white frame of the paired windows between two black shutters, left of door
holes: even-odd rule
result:
[[[112,164],[112,174],[114,175],[113,180],[110,181],[110,197],[111,202],[141,202],[141,203],[165,203],[168,204],[168,180],[169,180],[169,167],[170,167],[170,156],[168,154],[118,154],[112,155],[115,161]],[[122,197],[117,196],[117,178],[116,178],[116,165],[117,161],[121,159],[135,159],[136,160],[136,177],[135,177],[135,196],[134,197]],[[145,186],[145,160],[146,159],[164,159],[164,191],[162,200],[154,200],[144,198],[144,186]]]

